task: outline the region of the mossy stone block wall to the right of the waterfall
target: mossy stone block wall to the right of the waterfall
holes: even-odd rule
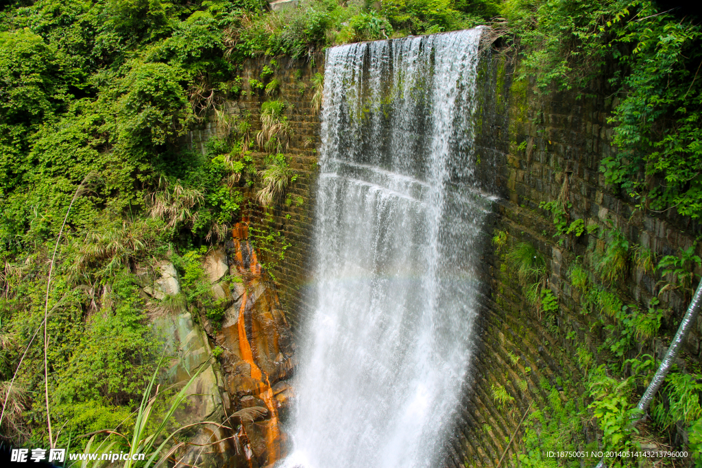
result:
[[[578,349],[607,359],[598,349],[607,338],[602,326],[592,327],[592,314],[583,310],[582,297],[569,282],[568,269],[576,258],[592,272],[588,253],[593,245],[604,246],[598,233],[618,229],[630,246],[639,244],[662,255],[677,255],[681,248],[696,246],[701,226],[669,210],[651,213],[637,210],[633,200],[604,182],[600,161],[616,148],[608,123],[616,101],[606,79],[592,83],[583,97],[575,92],[536,93],[528,77],[519,79],[519,67],[508,58],[483,59],[482,91],[478,120],[477,150],[482,161],[494,169],[483,169],[488,182],[500,196],[496,213],[489,218],[488,232],[508,232],[511,242],[527,241],[543,255],[550,276],[548,288],[559,299],[555,314],[539,314],[529,307],[524,291],[504,260],[504,252],[485,253],[489,295],[481,312],[478,352],[473,373],[466,385],[455,436],[446,448],[445,464],[450,467],[496,466],[510,445],[503,467],[517,466],[514,455],[523,431],[519,421],[531,410],[548,406],[552,389],[562,401],[583,404],[585,369],[578,362]],[[526,145],[524,145],[526,142]],[[585,226],[597,225],[593,234],[554,236],[552,215],[539,203],[557,199],[567,176],[570,221],[583,219]],[[631,250],[630,250],[631,251]],[[630,261],[624,281],[614,287],[624,304],[645,308],[654,295],[657,277]],[[696,270],[696,273],[702,273]],[[659,297],[670,308],[663,318],[656,340],[640,342],[628,357],[656,355],[660,359],[687,308],[681,290],[669,290]],[[684,359],[678,363],[699,363],[702,349],[702,317],[687,340]],[[526,389],[524,389],[526,382]],[[514,401],[501,404],[495,389],[503,387]],[[583,437],[596,443],[595,427],[585,424]],[[543,447],[543,450],[549,450]],[[596,463],[597,460],[594,460]],[[593,465],[594,466],[594,465]]]

